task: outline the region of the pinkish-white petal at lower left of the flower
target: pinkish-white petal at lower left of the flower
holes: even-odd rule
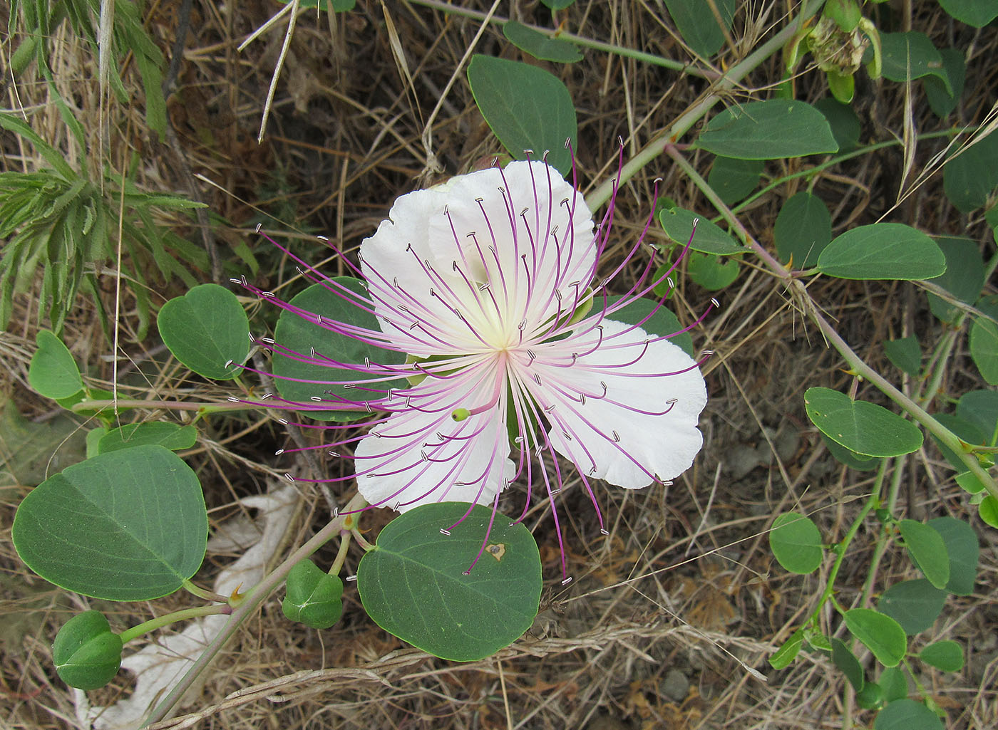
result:
[[[400,394],[411,407],[372,429],[354,454],[357,489],[369,504],[399,512],[436,502],[492,504],[515,469],[500,415],[504,404],[463,421],[452,418],[457,408],[488,402],[499,377],[491,375],[427,378]]]

